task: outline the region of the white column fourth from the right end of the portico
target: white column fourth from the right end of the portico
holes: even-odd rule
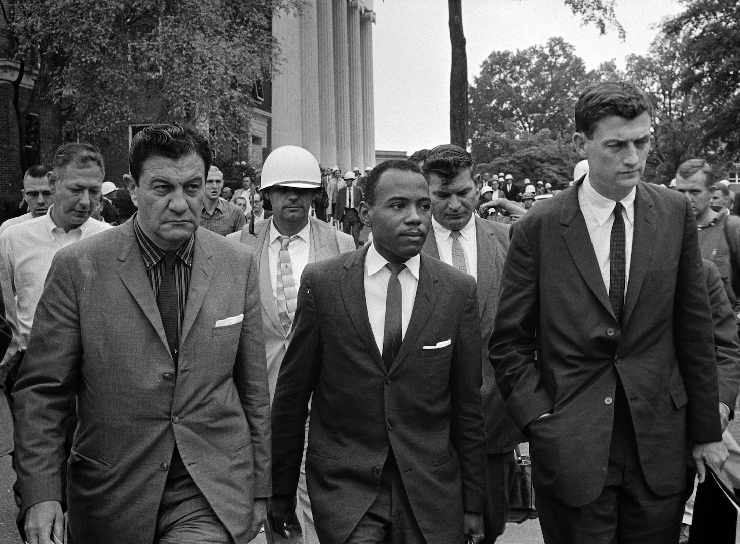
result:
[[[337,164],[337,112],[334,101],[334,27],[332,0],[316,1],[319,64],[319,125],[321,166]]]

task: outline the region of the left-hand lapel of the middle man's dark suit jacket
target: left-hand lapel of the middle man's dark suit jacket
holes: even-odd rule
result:
[[[383,369],[383,372],[386,372],[386,363],[383,363],[380,350],[375,345],[375,337],[372,334],[370,318],[368,317],[367,300],[365,298],[365,258],[368,248],[369,246],[364,246],[358,251],[351,253],[344,264],[347,272],[341,279],[342,298],[349,318],[354,324],[354,328],[357,329],[357,334],[363,339],[368,352],[372,355],[378,366]],[[403,345],[401,349],[403,349]]]

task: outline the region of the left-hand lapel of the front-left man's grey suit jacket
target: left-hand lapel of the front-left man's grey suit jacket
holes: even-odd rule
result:
[[[118,275],[121,276],[121,281],[124,282],[134,300],[141,306],[144,315],[147,316],[149,323],[152,323],[160,340],[169,351],[157,300],[154,298],[152,284],[149,283],[147,268],[144,266],[144,258],[141,257],[141,250],[134,234],[133,221],[127,221],[124,224],[121,234],[124,241],[121,243],[121,252],[118,254],[118,261],[122,261],[121,268],[118,269]]]

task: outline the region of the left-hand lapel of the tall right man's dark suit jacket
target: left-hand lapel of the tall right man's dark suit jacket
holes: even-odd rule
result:
[[[578,203],[578,185],[573,187],[573,190],[569,192],[562,204],[560,223],[567,226],[565,232],[562,233],[562,238],[565,240],[565,245],[568,246],[571,257],[586,284],[599,299],[599,302],[613,316],[614,311],[611,308],[609,295],[604,286],[604,278],[602,278],[601,270],[599,270],[599,263],[596,261],[596,253],[593,252],[591,235],[588,234],[586,220]]]

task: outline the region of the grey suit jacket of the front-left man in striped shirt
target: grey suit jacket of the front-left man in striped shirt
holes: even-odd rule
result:
[[[234,323],[216,326],[226,318]],[[261,331],[251,250],[207,229],[195,231],[177,372],[133,221],[61,249],[13,389],[23,508],[61,498],[64,415],[76,394],[67,486],[75,542],[152,542],[176,443],[246,544],[253,497],[271,494]]]

